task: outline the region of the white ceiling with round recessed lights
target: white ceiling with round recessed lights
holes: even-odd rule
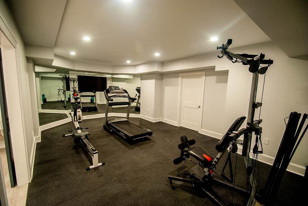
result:
[[[233,48],[273,41],[289,57],[307,60],[307,2],[10,0],[7,3],[27,46],[53,47],[55,55],[78,61],[121,65],[130,60],[135,65],[213,52],[228,38],[233,39]],[[91,41],[84,41],[83,36],[89,36]],[[213,36],[219,40],[209,41]],[[70,51],[76,55],[70,55]],[[161,55],[154,56],[155,52]]]

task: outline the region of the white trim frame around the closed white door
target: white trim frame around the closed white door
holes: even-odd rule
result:
[[[182,115],[182,93],[183,93],[183,78],[184,77],[196,77],[202,76],[202,88],[201,88],[201,99],[200,99],[200,113],[199,113],[199,123],[198,123],[198,132],[201,132],[202,124],[202,114],[203,114],[203,102],[204,102],[204,86],[205,86],[205,71],[198,72],[187,72],[179,74],[179,94],[178,94],[178,112],[177,112],[177,126],[181,126],[181,115]]]

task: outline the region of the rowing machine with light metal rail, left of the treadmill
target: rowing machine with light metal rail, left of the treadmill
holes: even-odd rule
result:
[[[78,93],[75,87],[73,89],[74,89],[73,91],[74,104],[72,104],[73,109],[74,109],[74,113],[72,115],[73,130],[69,131],[69,132],[72,132],[71,134],[67,134],[67,135],[63,134],[63,137],[73,136],[75,143],[78,141],[83,143],[83,145],[87,148],[88,152],[92,156],[92,165],[86,168],[87,170],[90,170],[90,169],[102,166],[105,163],[98,163],[98,151],[88,141],[88,137],[90,133],[86,130],[87,128],[79,127],[79,123],[82,121],[82,113],[81,113],[81,110],[78,108],[78,104],[77,104],[77,101],[79,99]]]

